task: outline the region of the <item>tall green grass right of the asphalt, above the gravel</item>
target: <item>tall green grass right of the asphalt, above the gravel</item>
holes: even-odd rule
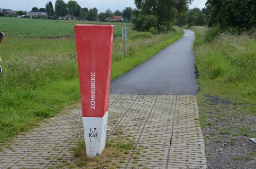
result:
[[[209,35],[216,37],[209,41]],[[201,87],[202,92],[220,95],[236,103],[255,104],[255,39],[255,30],[241,34],[229,31],[216,34],[212,29],[206,30],[194,46],[199,85],[208,86]]]

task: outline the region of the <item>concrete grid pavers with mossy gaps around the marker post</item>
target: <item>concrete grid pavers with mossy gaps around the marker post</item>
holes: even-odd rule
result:
[[[198,118],[195,96],[111,94],[107,136],[135,144],[131,156],[115,161],[121,168],[207,168]],[[2,148],[0,168],[69,168],[80,122],[80,109],[43,120]]]

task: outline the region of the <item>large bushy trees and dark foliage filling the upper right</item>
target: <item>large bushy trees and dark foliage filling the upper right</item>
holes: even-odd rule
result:
[[[193,0],[135,0],[132,23],[135,30],[153,34],[172,25],[251,29],[256,26],[256,0],[207,0],[205,8],[188,9]]]

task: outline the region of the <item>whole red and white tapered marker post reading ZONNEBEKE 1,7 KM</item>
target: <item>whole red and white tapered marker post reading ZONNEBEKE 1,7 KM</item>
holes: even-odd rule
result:
[[[88,157],[106,144],[113,25],[75,25],[84,139]]]

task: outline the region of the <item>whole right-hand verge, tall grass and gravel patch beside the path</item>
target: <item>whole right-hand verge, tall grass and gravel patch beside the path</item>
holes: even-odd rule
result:
[[[225,167],[228,161],[230,167],[253,168],[255,148],[249,138],[256,137],[256,32],[191,29],[208,166]]]

